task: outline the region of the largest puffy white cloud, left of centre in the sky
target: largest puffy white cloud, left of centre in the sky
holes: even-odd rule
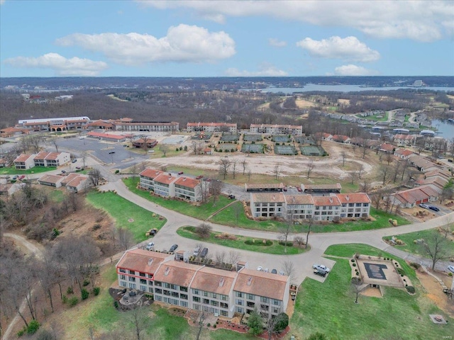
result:
[[[181,24],[172,26],[163,38],[139,33],[75,33],[56,40],[57,45],[78,45],[102,52],[118,64],[146,62],[215,62],[235,55],[235,42],[223,32]]]

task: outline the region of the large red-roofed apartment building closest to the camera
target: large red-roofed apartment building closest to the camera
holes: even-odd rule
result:
[[[223,317],[257,309],[269,316],[287,308],[289,277],[241,267],[238,271],[176,261],[173,255],[133,249],[116,265],[118,285],[152,293],[155,301]]]

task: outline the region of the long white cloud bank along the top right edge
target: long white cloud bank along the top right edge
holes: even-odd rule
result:
[[[226,16],[267,16],[316,26],[343,26],[375,38],[408,38],[423,42],[453,35],[454,2],[444,1],[137,1],[155,8],[190,8],[208,20]],[[449,28],[449,27],[448,27]]]

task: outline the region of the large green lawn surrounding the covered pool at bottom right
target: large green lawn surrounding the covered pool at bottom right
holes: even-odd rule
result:
[[[350,256],[376,255],[379,249],[362,244],[330,246],[326,254]],[[409,266],[399,260],[409,273]],[[350,265],[347,259],[336,259],[336,265],[324,283],[306,278],[297,295],[295,312],[290,320],[292,334],[301,339],[320,331],[328,339],[443,339],[454,334],[453,319],[438,310],[431,300],[421,294],[421,285],[414,271],[409,273],[416,287],[416,295],[398,288],[384,288],[384,296],[360,295],[355,304],[355,293],[350,288]],[[449,323],[437,325],[428,314],[443,314]]]

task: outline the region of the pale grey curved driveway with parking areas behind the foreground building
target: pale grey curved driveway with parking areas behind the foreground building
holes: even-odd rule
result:
[[[199,225],[202,222],[201,220],[198,220],[194,217],[182,215],[181,213],[175,212],[173,210],[162,208],[161,206],[156,205],[155,203],[152,203],[149,200],[137,196],[135,195],[135,193],[129,191],[123,181],[119,180],[118,177],[114,179],[113,177],[116,176],[109,176],[108,174],[106,174],[106,176],[109,177],[110,181],[105,186],[102,186],[100,188],[101,190],[116,190],[119,196],[130,200],[131,202],[139,205],[146,210],[156,212],[157,214],[167,218],[166,224],[153,239],[153,242],[155,242],[157,249],[169,249],[170,245],[174,243],[179,244],[179,249],[185,249],[189,251],[194,249],[196,241],[193,239],[180,237],[177,234],[177,229],[185,225]],[[310,276],[315,280],[323,280],[323,278],[319,276],[314,276],[314,274],[312,273],[311,264],[323,263],[326,264],[326,266],[333,266],[333,264],[335,263],[334,261],[322,257],[326,248],[328,248],[328,246],[331,246],[332,244],[368,244],[370,246],[375,246],[375,248],[382,249],[383,251],[387,251],[390,254],[398,256],[402,259],[409,259],[410,261],[417,262],[426,261],[427,263],[427,260],[421,259],[419,256],[414,256],[404,251],[400,251],[399,249],[395,249],[393,246],[389,246],[389,244],[382,241],[382,237],[439,227],[441,225],[450,223],[450,221],[453,219],[454,212],[451,212],[448,215],[436,217],[426,222],[403,225],[400,227],[389,227],[384,229],[359,232],[330,232],[323,234],[311,234],[309,236],[309,244],[311,246],[311,250],[307,251],[304,254],[297,255],[262,254],[255,251],[232,249],[226,246],[220,246],[218,244],[207,244],[206,246],[209,248],[209,254],[211,254],[211,256],[213,256],[216,251],[223,251],[226,254],[228,254],[229,251],[237,251],[241,256],[241,259],[248,262],[250,268],[255,268],[256,266],[260,265],[264,268],[269,268],[270,271],[272,268],[277,268],[277,270],[279,271],[279,269],[282,269],[282,263],[284,261],[292,261],[295,268],[293,283],[299,285],[307,276]],[[277,239],[279,237],[279,234],[276,232],[226,227],[224,225],[216,225],[211,222],[209,224],[216,232],[226,232],[229,234],[262,239]],[[296,234],[294,234],[294,236],[296,236]],[[306,234],[301,234],[301,236],[305,238]],[[145,243],[146,242],[143,242],[143,244]],[[139,246],[143,244],[139,244]],[[443,270],[445,268],[445,263],[439,263],[437,268]]]

